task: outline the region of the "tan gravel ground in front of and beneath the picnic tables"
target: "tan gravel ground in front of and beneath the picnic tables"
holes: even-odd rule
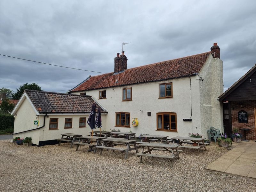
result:
[[[256,191],[254,179],[204,169],[228,151],[215,143],[207,151],[183,148],[173,168],[162,158],[143,157],[140,164],[135,150],[124,160],[119,151],[104,150],[100,156],[87,149],[81,146],[76,152],[65,143],[26,147],[0,141],[0,191]]]

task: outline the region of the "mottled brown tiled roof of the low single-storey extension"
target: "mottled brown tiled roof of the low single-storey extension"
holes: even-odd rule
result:
[[[24,91],[39,113],[90,113],[94,100],[89,95],[75,95],[35,90]],[[96,103],[97,108],[99,105]],[[101,108],[101,113],[107,113]]]

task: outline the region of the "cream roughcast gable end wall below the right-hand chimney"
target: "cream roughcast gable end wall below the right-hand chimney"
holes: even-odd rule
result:
[[[206,130],[211,126],[223,132],[222,106],[217,100],[223,93],[223,64],[219,58],[209,56],[199,73],[204,81],[199,81],[201,106],[201,134],[208,138]]]

